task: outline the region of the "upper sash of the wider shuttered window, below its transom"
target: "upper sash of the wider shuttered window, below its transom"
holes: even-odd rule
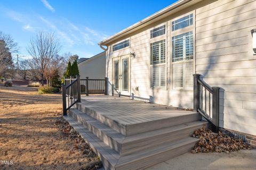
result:
[[[193,59],[193,31],[172,37],[172,61]]]

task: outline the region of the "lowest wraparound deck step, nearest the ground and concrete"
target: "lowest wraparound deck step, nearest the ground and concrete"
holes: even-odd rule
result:
[[[149,166],[161,163],[167,159],[181,155],[193,148],[198,139],[185,137],[174,142],[158,145],[157,147],[141,150],[129,155],[119,155],[114,149],[111,149],[89,129],[70,115],[64,118],[73,126],[81,136],[90,143],[93,150],[99,155],[102,164],[108,169],[145,169]]]

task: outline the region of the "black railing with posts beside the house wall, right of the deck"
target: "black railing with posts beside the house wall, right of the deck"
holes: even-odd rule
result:
[[[194,111],[199,112],[212,124],[214,132],[219,131],[220,87],[211,87],[194,74]]]

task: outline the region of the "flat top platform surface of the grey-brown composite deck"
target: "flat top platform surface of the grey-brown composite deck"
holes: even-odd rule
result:
[[[82,103],[118,123],[129,125],[164,118],[189,115],[194,112],[143,101],[116,98],[113,96],[83,97]]]

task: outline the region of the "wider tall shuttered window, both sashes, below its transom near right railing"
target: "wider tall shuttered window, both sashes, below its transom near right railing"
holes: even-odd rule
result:
[[[174,89],[190,90],[193,87],[193,47],[193,31],[172,37]]]

